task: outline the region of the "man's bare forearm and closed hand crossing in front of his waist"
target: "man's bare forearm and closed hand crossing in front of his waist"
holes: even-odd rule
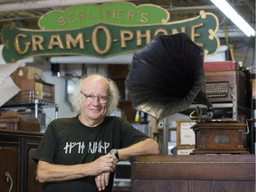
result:
[[[111,154],[100,156],[88,164],[61,165],[39,161],[36,176],[39,182],[76,180],[86,176],[100,175],[102,172],[114,172],[116,163],[116,156]]]

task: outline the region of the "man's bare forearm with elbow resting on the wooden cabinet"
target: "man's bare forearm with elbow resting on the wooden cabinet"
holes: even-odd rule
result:
[[[118,149],[118,155],[120,160],[129,160],[131,156],[135,155],[160,155],[161,150],[156,140],[148,138],[138,143],[133,144],[128,148]]]

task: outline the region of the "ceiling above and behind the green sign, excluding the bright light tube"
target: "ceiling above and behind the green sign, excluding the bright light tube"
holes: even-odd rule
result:
[[[241,12],[244,19],[255,28],[255,0],[228,0]],[[0,30],[14,22],[16,27],[36,29],[38,19],[46,12],[64,9],[75,4],[100,4],[110,0],[0,0]],[[157,4],[170,12],[171,20],[184,20],[198,15],[200,10],[215,13],[220,20],[220,29],[228,28],[236,31],[236,37],[244,34],[225,18],[210,0],[134,0],[133,4]],[[1,37],[1,34],[0,34]],[[0,40],[1,43],[1,40]]]

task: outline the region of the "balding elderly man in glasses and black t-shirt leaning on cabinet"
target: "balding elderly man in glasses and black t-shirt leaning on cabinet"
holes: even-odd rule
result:
[[[73,94],[78,115],[53,120],[34,156],[44,192],[110,192],[119,160],[160,154],[155,140],[124,119],[109,116],[118,101],[111,79],[100,75],[81,79]]]

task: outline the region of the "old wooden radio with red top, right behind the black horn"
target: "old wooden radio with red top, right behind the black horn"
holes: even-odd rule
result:
[[[212,103],[245,102],[246,76],[236,62],[204,62],[204,71],[204,92]]]

